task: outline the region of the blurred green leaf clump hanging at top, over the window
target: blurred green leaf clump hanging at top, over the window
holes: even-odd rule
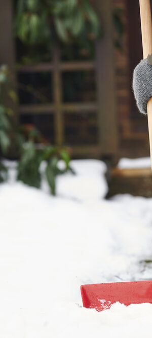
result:
[[[99,36],[101,28],[88,0],[18,0],[15,31],[28,45],[73,40],[85,45]]]

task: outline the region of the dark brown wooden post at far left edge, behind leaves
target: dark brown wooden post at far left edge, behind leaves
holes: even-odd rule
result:
[[[0,1],[0,64],[6,64],[9,67],[12,85],[15,86],[15,51],[13,40],[13,1]],[[8,95],[4,96],[6,105],[13,109],[17,117],[17,105]]]

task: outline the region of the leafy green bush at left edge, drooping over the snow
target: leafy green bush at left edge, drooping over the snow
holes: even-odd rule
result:
[[[68,170],[73,172],[70,168],[70,157],[65,149],[49,144],[40,145],[41,135],[34,128],[25,137],[24,129],[21,129],[13,120],[12,110],[3,104],[4,89],[13,100],[16,100],[9,81],[8,68],[3,65],[0,67],[0,182],[8,179],[8,168],[3,164],[2,157],[8,155],[13,143],[18,154],[17,180],[40,188],[42,180],[40,166],[43,161],[46,161],[46,179],[52,194],[55,195],[56,176]],[[64,169],[59,169],[59,160],[63,160]]]

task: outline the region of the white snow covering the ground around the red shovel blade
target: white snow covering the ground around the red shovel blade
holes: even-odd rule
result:
[[[104,200],[105,165],[72,161],[77,176],[36,190],[0,185],[0,337],[152,336],[152,305],[82,307],[80,285],[152,279],[152,199]]]

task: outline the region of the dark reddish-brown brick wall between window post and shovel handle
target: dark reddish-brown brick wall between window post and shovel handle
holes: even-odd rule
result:
[[[149,156],[147,118],[136,106],[132,90],[133,69],[142,58],[138,0],[112,0],[123,10],[123,51],[115,49],[119,157]]]

